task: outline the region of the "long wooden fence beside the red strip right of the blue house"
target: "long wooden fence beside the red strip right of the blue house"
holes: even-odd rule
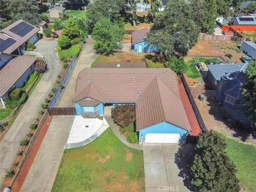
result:
[[[189,101],[190,101],[191,106],[192,106],[192,108],[195,112],[195,115],[196,115],[197,121],[199,123],[199,126],[200,126],[201,130],[206,130],[206,125],[204,123],[203,117],[200,114],[200,111],[199,111],[199,109],[196,105],[195,99],[193,98],[193,95],[191,94],[190,88],[189,88],[188,83],[186,81],[186,78],[183,74],[181,74],[181,80],[182,80],[182,83],[183,83],[183,85],[185,87],[185,90],[188,94]]]

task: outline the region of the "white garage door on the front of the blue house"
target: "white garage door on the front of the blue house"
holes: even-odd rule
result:
[[[179,143],[179,133],[147,133],[146,143]]]

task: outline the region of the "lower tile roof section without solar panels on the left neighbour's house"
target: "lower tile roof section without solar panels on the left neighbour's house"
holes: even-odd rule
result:
[[[0,96],[3,96],[35,61],[35,57],[18,56],[7,62],[0,70]]]

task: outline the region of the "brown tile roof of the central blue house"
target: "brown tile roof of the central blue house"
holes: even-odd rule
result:
[[[86,68],[78,75],[74,98],[135,103],[137,130],[164,121],[190,130],[177,75],[169,68]]]

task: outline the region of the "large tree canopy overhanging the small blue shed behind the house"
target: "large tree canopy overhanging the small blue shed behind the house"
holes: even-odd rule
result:
[[[193,12],[186,0],[167,3],[166,9],[157,15],[147,34],[147,44],[166,54],[178,52],[186,55],[197,43],[200,33]]]

